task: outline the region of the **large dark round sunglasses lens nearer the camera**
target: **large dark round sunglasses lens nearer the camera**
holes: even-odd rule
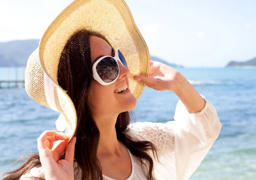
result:
[[[96,71],[102,81],[112,82],[118,76],[118,65],[112,57],[105,57],[96,66]]]

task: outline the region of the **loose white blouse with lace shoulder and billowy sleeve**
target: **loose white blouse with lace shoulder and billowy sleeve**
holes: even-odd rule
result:
[[[202,96],[202,95],[201,95]],[[175,121],[166,123],[137,122],[130,124],[128,135],[137,140],[151,141],[157,146],[160,163],[154,160],[153,174],[157,180],[187,180],[198,168],[209,152],[221,130],[217,112],[202,96],[206,105],[201,112],[189,113],[179,100],[175,110]],[[146,180],[140,161],[128,150],[132,172],[127,180]],[[147,169],[145,169],[147,172]],[[41,167],[35,167],[20,180],[28,177],[43,177]],[[75,180],[80,177],[75,172]],[[113,180],[103,175],[104,180]]]

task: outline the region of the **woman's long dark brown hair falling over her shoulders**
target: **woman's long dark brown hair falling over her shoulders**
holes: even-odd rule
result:
[[[100,132],[93,119],[93,109],[88,101],[89,90],[93,81],[92,63],[90,59],[89,37],[96,36],[108,40],[101,34],[90,31],[79,31],[74,34],[62,51],[58,65],[58,84],[67,90],[72,99],[77,113],[76,146],[74,161],[82,172],[81,180],[102,180],[101,164],[96,156]],[[110,45],[110,43],[108,42]],[[153,177],[153,159],[148,154],[152,151],[157,158],[157,150],[149,141],[135,141],[127,135],[128,125],[133,118],[131,112],[120,113],[116,120],[116,135],[130,152],[138,158],[141,166],[146,167],[143,171],[148,180]],[[3,180],[19,180],[23,174],[29,172],[33,167],[41,166],[39,155],[32,154],[19,168],[2,174],[6,176]],[[23,159],[22,158],[22,159]],[[64,155],[61,159],[64,158]],[[75,169],[76,170],[76,169]],[[40,179],[40,178],[34,178]],[[79,178],[80,179],[80,178]]]

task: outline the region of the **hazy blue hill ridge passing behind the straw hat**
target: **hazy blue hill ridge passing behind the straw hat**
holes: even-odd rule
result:
[[[0,67],[26,66],[30,54],[38,47],[39,39],[0,42]],[[171,67],[183,67],[150,56],[152,61],[162,62]]]

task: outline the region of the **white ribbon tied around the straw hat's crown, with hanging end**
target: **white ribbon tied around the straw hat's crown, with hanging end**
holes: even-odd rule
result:
[[[52,110],[59,112],[55,104],[54,83],[47,76],[46,73],[44,73],[44,94],[49,107]],[[63,114],[59,115],[57,121],[55,121],[55,126],[56,126],[56,129],[61,132],[63,132],[67,128],[67,122]]]

